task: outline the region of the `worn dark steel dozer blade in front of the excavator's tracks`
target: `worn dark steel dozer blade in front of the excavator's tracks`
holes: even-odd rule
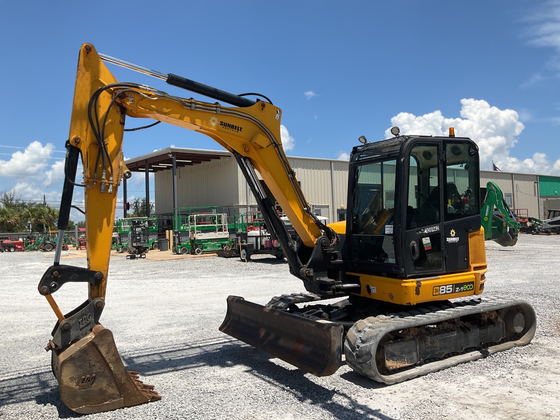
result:
[[[227,314],[220,331],[261,349],[315,376],[334,374],[342,365],[342,325],[227,298]]]

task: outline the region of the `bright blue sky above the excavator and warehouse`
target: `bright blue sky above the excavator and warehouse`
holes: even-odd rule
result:
[[[560,174],[558,2],[4,2],[2,9],[0,146],[63,150],[78,50],[90,42],[164,73],[267,95],[294,139],[288,155],[344,158],[359,136],[382,139],[392,123],[417,134],[454,124],[479,142],[483,166],[493,158],[505,170]],[[121,81],[191,96],[108,66]],[[170,144],[220,148],[160,124],[127,133],[124,151],[133,157]],[[57,200],[62,179],[49,165],[63,153],[50,148],[35,150],[41,160],[25,161],[22,172],[23,158],[10,156],[16,149],[0,147],[0,191]],[[39,169],[53,170],[51,178],[39,178]]]

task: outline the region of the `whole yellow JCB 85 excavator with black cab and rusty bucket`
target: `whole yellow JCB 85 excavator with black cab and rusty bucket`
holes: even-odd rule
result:
[[[220,102],[119,82],[104,62]],[[113,335],[99,322],[116,192],[120,180],[131,175],[122,152],[127,116],[206,134],[230,151],[290,272],[304,283],[305,292],[275,296],[265,306],[228,297],[222,332],[317,376],[337,371],[344,354],[354,371],[385,384],[523,346],[533,338],[535,312],[528,302],[468,298],[483,292],[487,272],[480,203],[460,194],[479,190],[478,148],[470,139],[452,133],[400,136],[396,127],[394,137],[384,141],[368,143],[362,136],[349,162],[347,221],[325,226],[284,154],[282,110],[267,97],[230,94],[84,44],[58,229],[62,237],[73,189],[83,188],[87,268],[60,264],[60,241],[38,287],[58,318],[45,349],[52,352],[60,397],[75,412],[104,412],[161,398],[138,372],[126,370]],[[83,182],[76,183],[79,157]],[[288,234],[256,172],[299,240]],[[53,294],[67,282],[87,283],[88,298],[63,314]]]

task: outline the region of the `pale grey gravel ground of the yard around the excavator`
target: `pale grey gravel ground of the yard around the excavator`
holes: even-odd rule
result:
[[[536,310],[529,346],[386,386],[343,366],[318,378],[218,331],[228,295],[265,304],[302,291],[286,262],[217,257],[111,258],[101,318],[125,365],[163,399],[91,419],[543,419],[560,418],[560,236],[487,242],[485,295],[519,297]],[[555,253],[556,252],[556,253]],[[52,253],[49,253],[52,254]],[[37,292],[46,253],[3,253],[0,267],[0,418],[81,417],[60,401],[50,372],[55,316]],[[64,263],[85,266],[85,258]],[[63,311],[87,296],[66,284]]]

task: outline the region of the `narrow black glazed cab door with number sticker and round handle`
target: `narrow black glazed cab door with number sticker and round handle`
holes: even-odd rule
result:
[[[403,256],[405,275],[445,271],[440,142],[413,143],[405,161]],[[405,184],[406,185],[406,184]],[[404,206],[403,206],[404,207]]]

